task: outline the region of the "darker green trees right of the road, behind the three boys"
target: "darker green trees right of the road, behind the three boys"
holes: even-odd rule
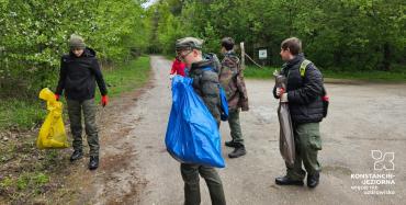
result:
[[[296,36],[319,67],[370,71],[406,64],[405,12],[403,0],[160,0],[148,14],[151,44],[166,54],[177,37],[201,37],[206,52],[218,52],[219,39],[232,36],[250,56],[268,47],[280,66],[280,43]]]

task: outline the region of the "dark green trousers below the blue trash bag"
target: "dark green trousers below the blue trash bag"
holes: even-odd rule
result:
[[[201,203],[200,197],[200,176],[206,181],[210,197],[213,205],[225,205],[222,180],[217,171],[212,167],[181,163],[180,171],[184,181],[184,204],[198,205]]]

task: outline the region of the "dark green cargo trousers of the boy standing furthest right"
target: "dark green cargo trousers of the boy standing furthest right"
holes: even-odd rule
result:
[[[322,138],[319,123],[294,124],[293,133],[295,138],[295,162],[287,167],[287,176],[292,180],[303,180],[307,174],[314,174],[322,170],[317,161],[317,152],[322,150]],[[302,162],[306,172],[302,169]]]

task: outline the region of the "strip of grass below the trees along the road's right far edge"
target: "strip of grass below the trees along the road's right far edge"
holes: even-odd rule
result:
[[[273,79],[273,71],[280,69],[277,67],[258,68],[247,66],[244,70],[246,78],[252,79]],[[406,82],[406,69],[397,67],[393,71],[347,71],[338,69],[320,69],[325,78],[334,79],[349,79],[349,80],[364,80],[373,82]]]

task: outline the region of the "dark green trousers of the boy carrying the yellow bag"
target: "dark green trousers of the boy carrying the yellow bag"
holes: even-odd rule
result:
[[[74,136],[74,149],[82,150],[82,113],[84,118],[84,130],[88,136],[90,156],[99,156],[99,136],[95,123],[97,106],[94,99],[84,101],[67,100],[70,130]]]

